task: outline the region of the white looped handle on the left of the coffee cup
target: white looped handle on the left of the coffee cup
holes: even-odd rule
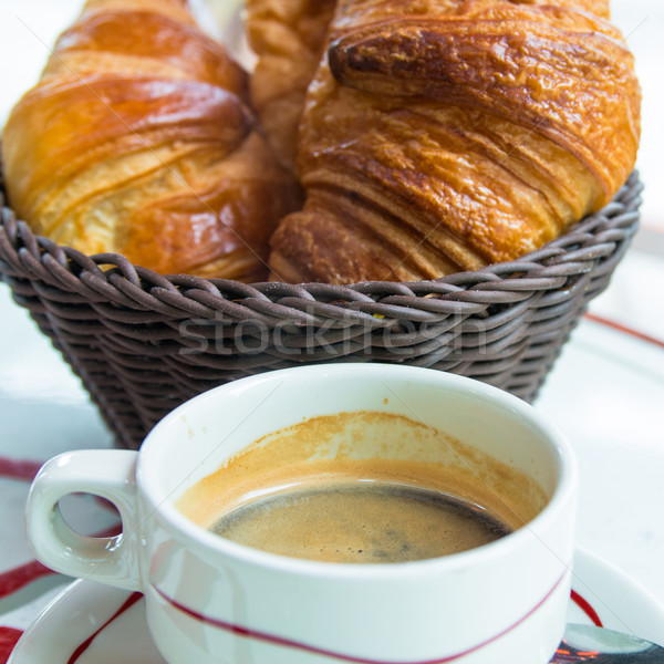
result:
[[[125,590],[141,590],[136,515],[136,452],[90,449],[61,454],[38,473],[27,507],[28,539],[49,568]],[[110,500],[122,518],[115,537],[87,537],[62,517],[59,500],[72,492]]]

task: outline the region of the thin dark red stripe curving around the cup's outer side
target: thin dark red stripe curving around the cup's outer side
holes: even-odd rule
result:
[[[483,641],[481,643],[478,643],[477,645],[474,645],[474,646],[471,646],[460,653],[454,654],[454,655],[446,655],[444,657],[439,657],[436,660],[426,660],[426,661],[418,661],[418,662],[398,662],[398,663],[383,661],[383,660],[372,660],[372,658],[366,658],[366,657],[356,657],[353,655],[336,653],[336,652],[333,652],[333,651],[330,651],[326,649],[318,647],[315,645],[310,645],[307,643],[294,641],[292,639],[278,636],[276,634],[268,634],[268,633],[261,632],[259,630],[252,630],[250,627],[243,627],[241,625],[237,625],[237,624],[234,624],[234,623],[230,623],[227,621],[218,620],[216,618],[210,618],[209,615],[199,613],[198,611],[195,611],[194,609],[189,609],[188,606],[185,606],[180,602],[169,598],[166,593],[164,593],[162,590],[159,590],[156,585],[153,585],[153,588],[155,589],[157,594],[159,594],[159,596],[162,596],[168,604],[170,604],[178,611],[185,613],[186,615],[189,615],[194,620],[203,622],[204,624],[209,624],[209,625],[218,627],[220,630],[225,630],[227,632],[232,632],[234,634],[238,634],[238,635],[245,636],[247,639],[255,639],[257,641],[264,641],[267,643],[272,643],[274,645],[282,645],[282,646],[291,647],[294,650],[307,651],[310,653],[315,653],[315,654],[324,655],[328,657],[334,657],[334,658],[343,661],[343,662],[352,662],[353,664],[445,664],[446,662],[454,662],[456,660],[460,660],[461,657],[465,657],[466,655],[469,655],[470,653],[489,645],[490,643],[497,641],[498,639],[505,636],[506,634],[508,634],[509,632],[511,632],[512,630],[518,627],[528,618],[530,618],[538,609],[540,609],[540,606],[542,604],[544,604],[544,602],[553,594],[556,589],[562,583],[562,580],[566,578],[566,575],[567,575],[567,571],[562,573],[562,575],[560,577],[560,579],[558,579],[558,581],[556,581],[556,583],[553,584],[551,590],[549,590],[547,592],[547,594],[530,611],[528,611],[528,613],[526,613],[523,616],[521,616],[519,620],[517,620],[513,624],[509,625],[508,627],[506,627],[498,634],[490,636],[486,641]]]

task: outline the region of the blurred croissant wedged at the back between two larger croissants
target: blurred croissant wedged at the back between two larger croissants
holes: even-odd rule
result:
[[[295,167],[298,124],[336,0],[247,0],[247,35],[258,61],[251,100],[272,148]]]

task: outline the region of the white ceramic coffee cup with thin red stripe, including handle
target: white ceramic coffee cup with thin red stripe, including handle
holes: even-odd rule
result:
[[[490,544],[386,564],[259,551],[176,509],[186,489],[262,436],[355,411],[397,413],[490,454],[537,480],[546,507]],[[143,592],[172,664],[544,664],[564,630],[577,483],[568,443],[506,392],[427,369],[309,365],[193,398],[138,453],[55,457],[32,486],[28,533],[49,567]],[[74,532],[58,509],[73,491],[111,500],[122,535]]]

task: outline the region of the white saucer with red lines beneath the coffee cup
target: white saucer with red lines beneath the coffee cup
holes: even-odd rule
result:
[[[577,550],[569,622],[593,624],[664,645],[664,606],[620,570]],[[165,664],[145,621],[143,598],[75,581],[25,631],[8,664]]]

